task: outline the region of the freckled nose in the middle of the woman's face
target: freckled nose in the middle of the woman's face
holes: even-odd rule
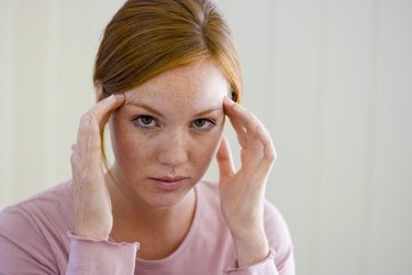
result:
[[[158,146],[158,161],[162,165],[177,167],[189,160],[188,139],[185,133],[168,133]]]

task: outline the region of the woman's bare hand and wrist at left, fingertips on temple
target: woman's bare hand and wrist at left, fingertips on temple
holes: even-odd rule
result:
[[[101,164],[101,132],[123,95],[99,101],[81,117],[77,143],[71,146],[75,231],[78,237],[108,240],[113,227],[111,200]]]

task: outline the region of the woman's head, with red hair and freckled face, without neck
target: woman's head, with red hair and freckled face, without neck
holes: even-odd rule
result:
[[[241,100],[241,78],[231,31],[210,0],[126,1],[105,29],[93,75],[105,96],[126,96],[110,120],[115,180],[148,204],[181,199],[220,144],[222,100]],[[165,193],[162,180],[176,177],[182,187]]]

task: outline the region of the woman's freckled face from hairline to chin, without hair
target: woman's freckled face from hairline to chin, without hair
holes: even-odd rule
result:
[[[229,81],[212,63],[170,69],[125,92],[110,119],[121,188],[152,207],[171,207],[201,179],[224,127]]]

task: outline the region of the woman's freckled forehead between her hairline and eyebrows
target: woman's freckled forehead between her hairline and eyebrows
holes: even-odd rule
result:
[[[229,89],[230,84],[218,66],[210,62],[197,62],[169,69],[125,95],[130,102],[207,103],[222,99]]]

